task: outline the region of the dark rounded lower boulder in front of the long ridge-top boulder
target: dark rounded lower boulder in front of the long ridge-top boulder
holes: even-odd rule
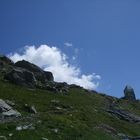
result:
[[[36,85],[36,78],[34,74],[23,68],[12,68],[5,77],[6,80],[26,87],[33,88]]]

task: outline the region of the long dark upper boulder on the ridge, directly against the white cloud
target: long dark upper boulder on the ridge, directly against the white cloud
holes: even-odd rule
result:
[[[15,63],[16,67],[27,69],[28,71],[32,72],[37,79],[37,81],[41,83],[46,83],[47,81],[53,81],[53,74],[51,72],[44,72],[40,67],[22,60]]]

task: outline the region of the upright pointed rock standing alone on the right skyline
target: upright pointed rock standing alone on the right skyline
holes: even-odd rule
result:
[[[124,99],[136,101],[134,89],[131,86],[126,86],[124,89]]]

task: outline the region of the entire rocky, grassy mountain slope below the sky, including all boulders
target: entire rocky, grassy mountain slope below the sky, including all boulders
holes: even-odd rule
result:
[[[140,101],[54,81],[28,61],[0,56],[0,140],[140,140]]]

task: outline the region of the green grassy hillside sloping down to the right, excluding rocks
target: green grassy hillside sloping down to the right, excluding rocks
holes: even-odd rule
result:
[[[117,140],[119,133],[140,135],[139,124],[105,111],[110,102],[116,102],[120,108],[140,115],[139,102],[119,100],[82,88],[70,88],[65,94],[31,90],[2,81],[0,98],[15,102],[14,109],[22,114],[19,119],[0,123],[0,135],[8,140]],[[24,104],[34,105],[38,113],[29,113]],[[31,129],[16,130],[17,126],[30,124]]]

